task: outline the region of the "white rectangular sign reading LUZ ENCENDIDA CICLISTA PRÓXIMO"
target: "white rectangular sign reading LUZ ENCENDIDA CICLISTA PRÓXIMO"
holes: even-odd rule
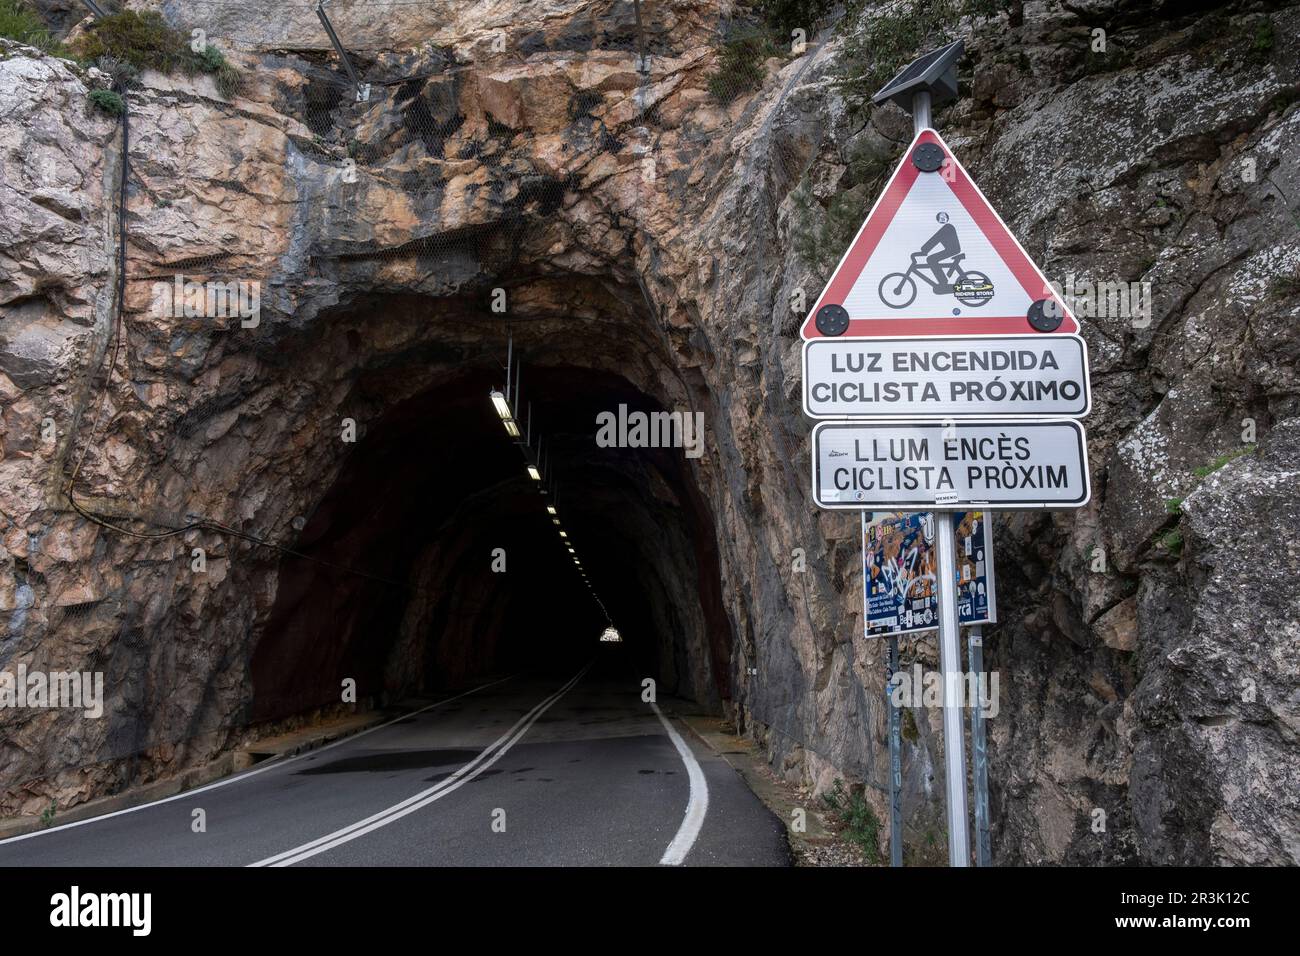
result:
[[[1079,336],[815,338],[803,343],[803,411],[844,418],[1075,418],[1088,414]]]

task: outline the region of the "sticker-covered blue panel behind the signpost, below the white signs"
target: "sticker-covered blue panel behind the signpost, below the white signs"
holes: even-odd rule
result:
[[[953,515],[957,532],[957,611],[965,626],[997,620],[993,536],[983,511]],[[874,512],[862,518],[862,571],[867,635],[939,627],[935,519],[924,511]]]

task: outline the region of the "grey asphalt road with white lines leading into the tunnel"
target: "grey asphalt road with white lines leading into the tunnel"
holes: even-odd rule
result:
[[[164,801],[0,840],[0,866],[788,865],[781,822],[740,775],[608,663],[480,685]]]

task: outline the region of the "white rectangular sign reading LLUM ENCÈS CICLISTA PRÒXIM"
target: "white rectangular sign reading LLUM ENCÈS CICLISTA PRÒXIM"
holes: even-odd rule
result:
[[[823,421],[812,494],[824,509],[987,511],[1088,502],[1083,425],[1053,421]]]

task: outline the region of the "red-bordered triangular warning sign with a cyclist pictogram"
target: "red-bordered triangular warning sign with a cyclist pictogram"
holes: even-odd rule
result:
[[[803,338],[1074,333],[1079,323],[935,130],[922,130]]]

